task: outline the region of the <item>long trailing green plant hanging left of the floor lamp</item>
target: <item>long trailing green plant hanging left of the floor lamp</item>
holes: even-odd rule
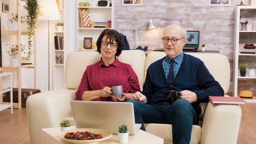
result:
[[[30,56],[33,54],[32,50],[32,34],[35,28],[37,28],[37,19],[38,16],[42,15],[41,7],[38,5],[37,0],[27,0],[26,5],[23,6],[28,15],[26,16],[25,22],[28,25],[28,57],[27,59],[30,60]]]

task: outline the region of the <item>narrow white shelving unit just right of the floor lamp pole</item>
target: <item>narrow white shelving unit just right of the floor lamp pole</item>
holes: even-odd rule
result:
[[[65,73],[65,49],[66,47],[65,45],[65,23],[64,23],[64,18],[65,18],[65,0],[59,0],[59,12],[60,12],[60,16],[61,16],[61,20],[60,21],[54,21],[53,22],[53,55],[52,55],[52,65],[53,65],[53,74],[52,74],[52,86],[50,85],[50,90],[56,90],[56,89],[60,89],[60,88],[65,88],[65,81],[64,81],[64,73]],[[63,31],[58,31],[57,30],[57,23],[64,23],[63,26]],[[63,37],[63,41],[64,44],[63,48],[64,49],[56,49],[55,47],[55,41],[54,41],[54,36],[59,36],[59,37]],[[57,63],[56,60],[56,54],[58,56],[62,56],[62,60],[61,63]]]

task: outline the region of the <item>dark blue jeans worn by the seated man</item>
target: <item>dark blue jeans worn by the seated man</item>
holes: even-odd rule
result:
[[[135,123],[141,123],[141,130],[145,131],[144,123],[172,124],[173,144],[189,144],[192,125],[198,124],[198,115],[189,101],[176,100],[173,105],[163,102],[157,105],[144,105],[136,100],[132,102],[134,107]]]

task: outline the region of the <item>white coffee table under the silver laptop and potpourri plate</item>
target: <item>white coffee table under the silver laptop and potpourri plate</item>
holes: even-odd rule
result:
[[[72,128],[75,128],[72,126]],[[43,128],[41,130],[41,144],[71,144],[61,139],[58,135],[61,132],[59,127]],[[113,135],[109,139],[98,144],[120,144],[118,135]],[[137,135],[129,135],[127,144],[163,144],[163,139],[143,130],[139,130]]]

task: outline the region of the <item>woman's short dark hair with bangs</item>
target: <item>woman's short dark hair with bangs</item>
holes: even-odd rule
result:
[[[101,39],[104,36],[107,36],[107,39],[110,39],[110,42],[113,42],[114,40],[117,43],[117,49],[116,49],[116,56],[119,56],[122,53],[123,50],[123,41],[120,33],[118,33],[116,30],[112,29],[105,29],[103,32],[100,34],[100,36],[97,39],[97,51],[100,52],[100,47],[101,47]]]

